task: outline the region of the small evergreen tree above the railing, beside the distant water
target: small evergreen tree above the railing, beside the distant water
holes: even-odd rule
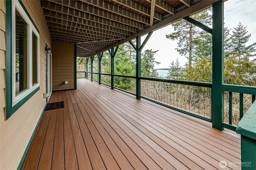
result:
[[[180,66],[180,61],[178,60],[178,58],[176,59],[176,61],[174,62],[174,60],[172,60],[171,66],[170,66],[170,70],[167,73],[166,78],[167,79],[183,79],[184,73],[182,71],[182,68]]]

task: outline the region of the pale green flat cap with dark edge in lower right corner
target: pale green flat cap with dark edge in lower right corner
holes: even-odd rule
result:
[[[256,140],[256,101],[252,103],[246,114],[239,121],[236,132]]]

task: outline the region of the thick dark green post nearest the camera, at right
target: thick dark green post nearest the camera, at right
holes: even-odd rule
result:
[[[220,0],[212,4],[212,127],[218,130],[223,130],[224,121],[223,42],[224,2]]]

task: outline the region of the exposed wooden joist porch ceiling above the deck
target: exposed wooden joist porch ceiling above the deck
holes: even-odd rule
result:
[[[90,57],[143,36],[218,0],[41,0],[53,41],[77,43]]]

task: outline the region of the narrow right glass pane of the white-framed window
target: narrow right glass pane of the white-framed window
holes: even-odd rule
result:
[[[36,34],[32,32],[32,85],[38,83],[38,40]]]

